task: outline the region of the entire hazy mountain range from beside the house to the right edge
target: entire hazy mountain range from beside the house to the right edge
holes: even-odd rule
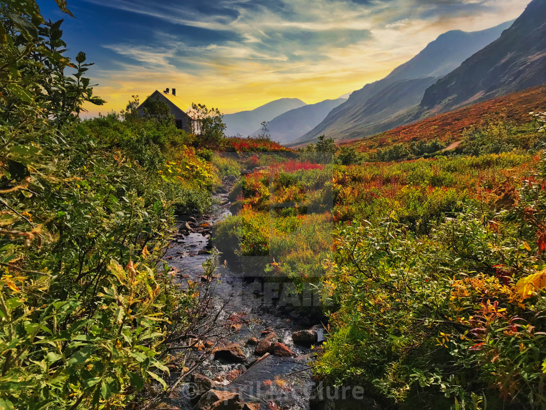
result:
[[[228,135],[244,136],[257,134],[260,122],[270,121],[274,140],[298,147],[322,134],[337,141],[369,137],[541,84],[546,84],[546,0],[532,0],[514,21],[482,31],[441,34],[410,61],[353,91],[346,101],[307,106],[283,98],[225,115],[224,121]]]

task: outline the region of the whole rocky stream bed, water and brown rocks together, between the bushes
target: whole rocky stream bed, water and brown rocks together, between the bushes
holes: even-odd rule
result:
[[[200,280],[202,264],[215,245],[212,227],[231,214],[227,196],[234,180],[224,178],[209,212],[179,215],[180,234],[165,255],[179,275]],[[217,272],[221,279],[212,297],[216,308],[223,308],[221,320],[235,331],[193,374],[191,382],[181,385],[180,397],[172,397],[169,404],[199,410],[216,408],[216,401],[222,403],[219,408],[309,409],[313,382],[308,362],[313,356],[311,345],[322,340],[319,317],[312,320],[292,306],[271,303],[264,296],[261,274],[242,272],[236,261],[218,266]]]

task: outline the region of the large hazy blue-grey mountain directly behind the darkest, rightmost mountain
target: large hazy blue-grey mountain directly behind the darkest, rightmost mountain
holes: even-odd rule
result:
[[[495,40],[511,24],[470,33],[454,30],[441,34],[387,77],[354,91],[321,124],[293,144],[312,142],[322,134],[337,140],[365,137],[404,124],[413,118],[430,85]]]

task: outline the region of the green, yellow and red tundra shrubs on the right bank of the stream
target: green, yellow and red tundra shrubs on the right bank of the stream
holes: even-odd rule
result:
[[[454,149],[432,140],[405,155],[321,138],[244,175],[231,197],[240,210],[216,237],[269,257],[263,268],[280,281],[321,289],[319,379],[401,409],[546,407],[537,118],[489,121]]]

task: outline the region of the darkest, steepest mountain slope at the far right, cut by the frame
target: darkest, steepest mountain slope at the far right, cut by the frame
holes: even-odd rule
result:
[[[533,0],[501,36],[425,91],[420,108],[446,112],[546,83],[546,0]]]

